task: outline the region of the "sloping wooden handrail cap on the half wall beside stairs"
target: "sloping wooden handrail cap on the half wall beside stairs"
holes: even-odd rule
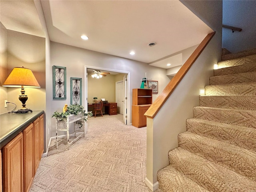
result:
[[[177,72],[177,74],[170,80],[170,82],[164,88],[162,93],[156,98],[156,100],[153,102],[153,104],[150,106],[150,108],[148,108],[148,110],[144,114],[147,118],[153,119],[156,116],[156,114],[164,105],[166,100],[170,97],[172,92],[178,86],[182,78],[186,75],[186,73],[188,72],[192,64],[196,61],[196,59],[202,53],[206,45],[210,42],[214,34],[215,32],[212,32],[204,38],[204,40],[198,45],[198,47],[196,48],[196,50],[194,50],[194,52],[191,54],[188,60],[186,60],[184,65],[182,65],[182,67]]]

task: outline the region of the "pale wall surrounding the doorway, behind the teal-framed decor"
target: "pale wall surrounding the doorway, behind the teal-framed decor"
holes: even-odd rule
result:
[[[164,87],[168,84],[170,79],[166,76],[166,70],[162,68],[157,68],[154,66],[148,66],[148,64],[143,62],[137,62],[134,60],[129,60],[125,58],[120,58],[108,54],[103,54],[91,50],[86,50],[82,48],[77,48],[74,46],[68,46],[65,44],[60,44],[56,42],[51,42],[50,46],[51,54],[51,65],[65,66],[67,80],[70,77],[82,78],[82,83],[84,85],[84,66],[95,66],[98,68],[106,68],[119,71],[130,72],[130,109],[132,104],[132,89],[140,88],[141,79],[145,77],[145,72],[147,72],[147,77],[152,80],[158,80],[158,93],[162,92]],[[46,71],[47,74],[51,74],[52,71]],[[50,80],[47,80],[50,81]],[[70,82],[67,82],[67,99],[66,100],[47,100],[50,102],[51,114],[56,110],[61,112],[64,104],[69,104],[70,102]],[[46,88],[46,94],[50,95],[51,89]],[[52,97],[52,95],[51,95]],[[156,99],[157,94],[153,95],[153,100]],[[82,105],[84,106],[85,98],[82,96]],[[130,110],[130,117],[132,116]],[[49,118],[49,117],[48,117]],[[131,118],[130,118],[131,119]],[[128,123],[132,123],[131,121]],[[54,119],[51,121],[51,131],[50,135],[55,135],[55,122]]]

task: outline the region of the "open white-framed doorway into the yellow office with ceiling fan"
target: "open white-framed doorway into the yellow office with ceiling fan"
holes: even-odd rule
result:
[[[98,78],[93,78],[94,74],[102,74]],[[86,111],[90,111],[91,104],[96,100],[106,100],[107,102],[117,102],[117,94],[120,102],[118,103],[118,113],[123,115],[124,124],[130,122],[130,98],[129,95],[129,72],[85,66],[84,77],[84,103]],[[122,82],[121,92],[116,92],[116,82]],[[119,96],[120,95],[120,96]],[[89,106],[89,108],[88,108]],[[120,109],[122,111],[120,111]],[[105,108],[102,112],[105,113]],[[107,112],[106,112],[107,113]]]

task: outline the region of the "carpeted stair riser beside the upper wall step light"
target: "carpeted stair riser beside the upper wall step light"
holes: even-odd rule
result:
[[[220,61],[218,62],[218,67],[224,68],[224,67],[231,67],[231,66],[255,63],[255,62],[256,62],[256,54],[241,57],[241,58],[226,60],[226,61]]]

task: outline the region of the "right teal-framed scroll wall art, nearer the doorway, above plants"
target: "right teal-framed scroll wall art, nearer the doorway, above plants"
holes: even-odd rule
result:
[[[82,105],[82,78],[70,77],[70,104]]]

